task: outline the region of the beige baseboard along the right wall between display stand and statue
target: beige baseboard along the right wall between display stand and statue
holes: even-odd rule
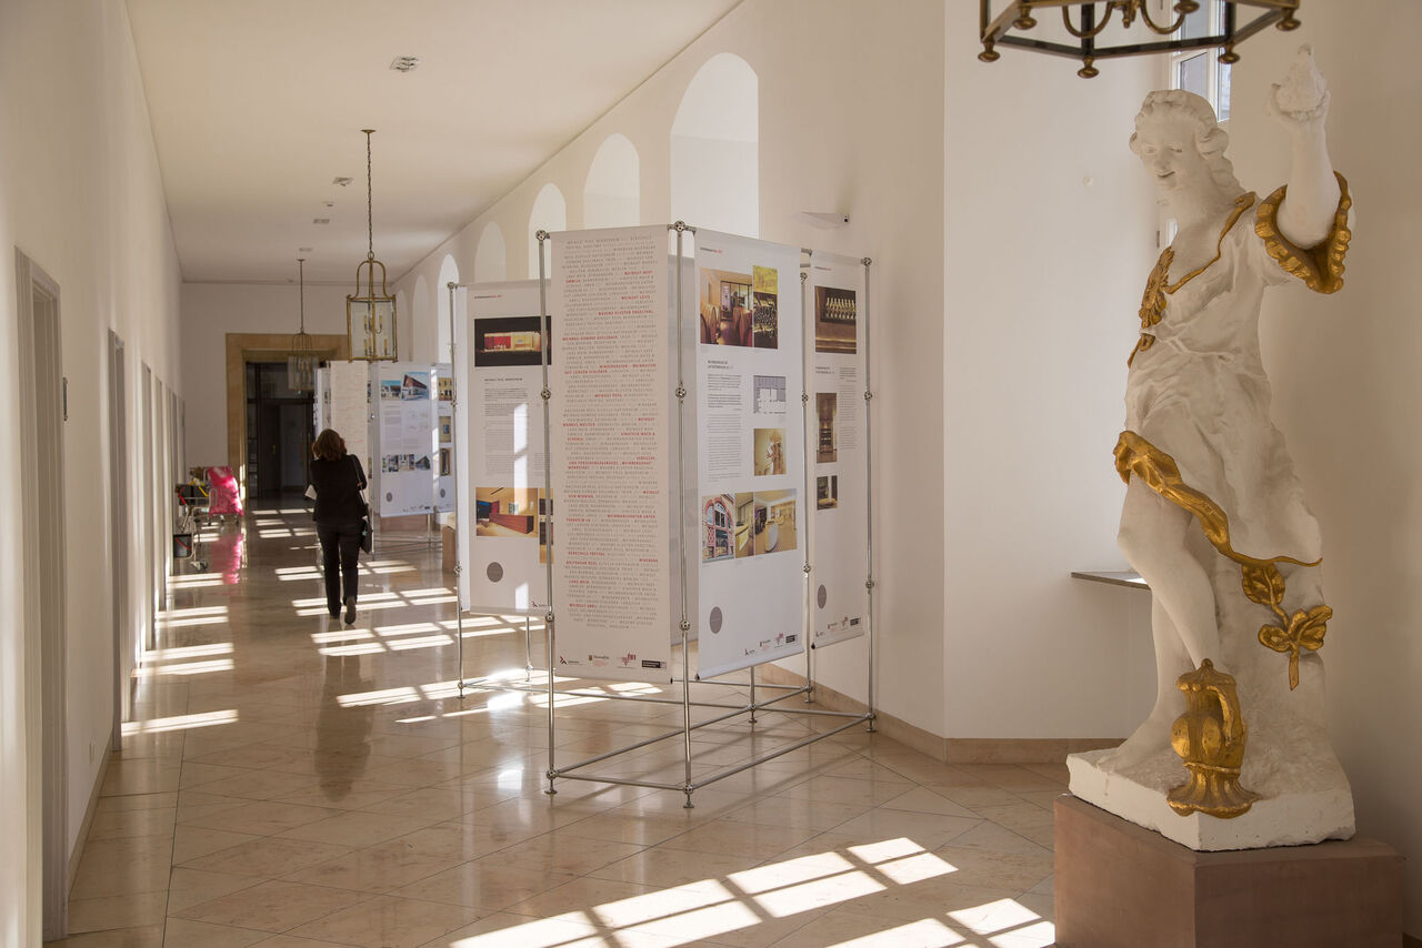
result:
[[[762,681],[772,685],[805,684],[803,675],[775,664],[759,665],[758,669]],[[853,713],[869,709],[865,702],[820,684],[815,685],[815,704]],[[1101,750],[1121,743],[1121,738],[941,738],[883,711],[875,715],[875,729],[944,763],[1061,763],[1069,753]]]

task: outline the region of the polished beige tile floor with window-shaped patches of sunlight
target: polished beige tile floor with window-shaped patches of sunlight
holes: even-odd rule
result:
[[[856,726],[698,790],[691,810],[603,783],[546,796],[546,698],[459,699],[438,557],[377,551],[347,628],[326,615],[314,543],[303,512],[259,509],[209,537],[208,573],[173,580],[58,944],[1052,944],[1065,767],[948,766]],[[522,620],[469,620],[465,648],[469,675],[525,677]],[[694,694],[727,701],[741,678]],[[680,713],[560,701],[559,763]],[[698,729],[695,772],[812,725],[828,726]],[[681,759],[667,740],[599,766],[677,780]]]

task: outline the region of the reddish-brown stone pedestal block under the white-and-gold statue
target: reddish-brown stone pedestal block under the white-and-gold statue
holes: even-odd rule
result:
[[[1057,948],[1398,948],[1378,840],[1200,853],[1074,796],[1055,806]]]

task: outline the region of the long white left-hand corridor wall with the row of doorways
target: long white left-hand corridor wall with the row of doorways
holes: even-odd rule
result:
[[[132,37],[122,4],[0,4],[0,522],[21,522],[14,379],[18,246],[60,284],[64,374],[68,613],[68,824],[78,833],[112,725],[109,505],[139,510],[142,364],[183,392],[178,260]],[[107,334],[127,344],[129,495],[108,482]],[[145,596],[137,513],[129,601]],[[37,945],[38,733],[24,702],[18,530],[0,532],[0,942]]]

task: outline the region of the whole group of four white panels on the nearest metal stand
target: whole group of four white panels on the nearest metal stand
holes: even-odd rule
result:
[[[700,679],[869,623],[866,262],[693,240],[556,233],[546,284],[451,290],[459,603],[556,613],[559,674],[665,681],[683,620]]]

